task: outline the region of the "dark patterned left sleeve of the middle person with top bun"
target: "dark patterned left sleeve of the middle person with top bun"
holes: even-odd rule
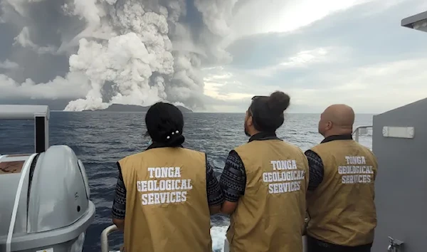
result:
[[[234,150],[228,154],[219,184],[226,201],[237,202],[238,199],[245,194],[245,166],[243,165],[241,157],[239,157]]]

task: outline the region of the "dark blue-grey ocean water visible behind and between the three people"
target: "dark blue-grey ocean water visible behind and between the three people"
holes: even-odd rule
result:
[[[68,145],[85,164],[91,200],[96,206],[95,221],[86,233],[83,251],[100,251],[100,233],[111,222],[111,206],[117,182],[115,162],[148,146],[144,138],[144,113],[119,112],[51,112],[50,144]],[[185,114],[185,147],[206,152],[216,167],[218,176],[228,152],[247,142],[243,133],[243,113],[191,113]],[[306,150],[322,141],[317,133],[317,114],[288,114],[278,130],[278,137]],[[372,115],[357,115],[355,127],[371,125]],[[1,121],[1,154],[32,153],[32,121]],[[359,139],[371,147],[371,132]],[[226,216],[211,219],[211,235],[215,251],[221,251],[228,227]],[[117,249],[122,235],[110,236],[110,248]]]

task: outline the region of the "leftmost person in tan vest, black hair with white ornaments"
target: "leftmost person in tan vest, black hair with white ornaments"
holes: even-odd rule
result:
[[[152,145],[117,162],[113,223],[126,251],[211,252],[211,214],[223,194],[206,154],[182,147],[184,117],[169,103],[145,115]]]

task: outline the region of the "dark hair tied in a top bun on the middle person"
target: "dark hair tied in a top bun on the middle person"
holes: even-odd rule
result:
[[[283,112],[290,105],[290,96],[275,91],[270,96],[255,96],[252,98],[249,113],[253,118],[253,126],[262,132],[275,132],[285,121]]]

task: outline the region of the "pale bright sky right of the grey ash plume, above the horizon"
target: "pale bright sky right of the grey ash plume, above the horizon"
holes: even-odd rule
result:
[[[381,8],[372,11],[376,6]],[[331,103],[383,112],[425,98],[427,75],[420,69],[427,67],[426,33],[399,24],[423,6],[423,1],[372,1],[292,32],[243,37],[228,49],[233,63],[212,69],[205,79],[216,92],[206,94],[227,105],[236,103],[238,94],[283,90],[292,96],[295,112],[321,112]]]

